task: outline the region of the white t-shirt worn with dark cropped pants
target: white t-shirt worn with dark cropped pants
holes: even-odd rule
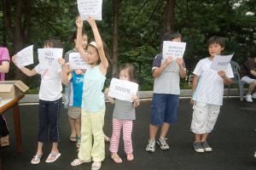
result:
[[[34,69],[41,75],[42,79],[39,90],[39,99],[46,101],[61,99],[61,70],[41,69],[40,65],[37,65]]]

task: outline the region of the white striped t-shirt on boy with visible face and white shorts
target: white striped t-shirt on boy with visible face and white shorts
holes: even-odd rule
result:
[[[201,59],[195,66],[193,73],[199,77],[197,87],[192,96],[195,101],[200,101],[212,105],[222,105],[224,95],[224,80],[218,76],[218,71],[210,69],[212,60]],[[226,76],[233,78],[234,74],[231,65],[225,71]]]

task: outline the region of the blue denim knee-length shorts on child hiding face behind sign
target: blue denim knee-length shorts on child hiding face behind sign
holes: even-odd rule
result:
[[[162,126],[164,122],[176,124],[178,105],[179,95],[153,94],[150,124],[159,127]]]

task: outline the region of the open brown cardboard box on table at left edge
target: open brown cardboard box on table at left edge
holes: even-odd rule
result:
[[[0,97],[3,99],[15,98],[28,89],[21,81],[0,81]]]

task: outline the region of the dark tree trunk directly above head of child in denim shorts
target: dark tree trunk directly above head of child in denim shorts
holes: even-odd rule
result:
[[[174,8],[176,0],[166,0],[166,8],[163,22],[163,33],[170,33],[173,31]]]

